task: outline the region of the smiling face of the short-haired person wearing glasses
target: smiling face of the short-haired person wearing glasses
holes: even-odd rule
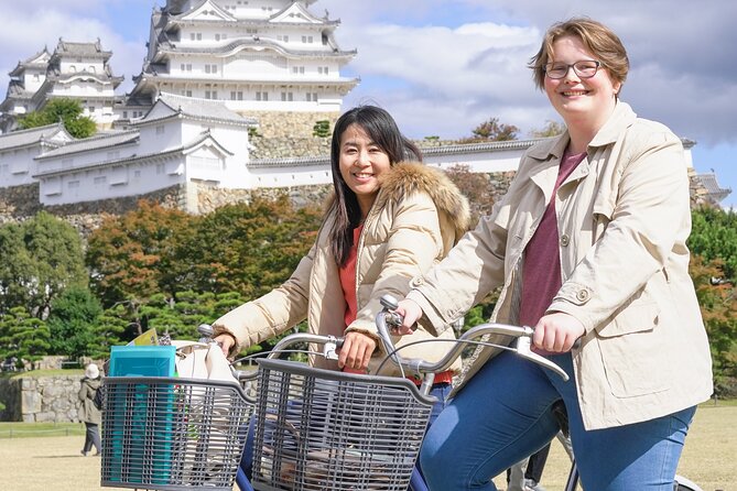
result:
[[[577,36],[566,35],[553,43],[549,63],[572,65],[597,61]],[[559,79],[545,77],[545,94],[568,128],[598,130],[614,110],[621,84],[613,81],[601,66],[590,78],[581,78],[573,68]]]

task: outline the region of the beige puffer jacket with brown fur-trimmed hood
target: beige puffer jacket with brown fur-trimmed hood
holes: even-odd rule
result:
[[[410,290],[410,279],[440,262],[467,230],[469,210],[466,198],[437,170],[402,163],[384,174],[358,242],[358,315],[347,328],[338,265],[330,252],[333,220],[333,216],[326,218],[315,244],[284,284],[217,319],[213,324],[216,334],[230,332],[241,349],[284,332],[306,318],[310,332],[343,336],[356,330],[376,337],[375,317],[381,309],[381,295],[402,298]],[[442,338],[454,338],[453,329],[443,330]],[[411,339],[394,341],[402,346],[419,339],[434,336],[420,329]],[[403,349],[401,354],[435,361],[451,347],[447,342],[427,342]],[[375,351],[370,373],[375,373],[382,359],[381,350]],[[317,367],[337,369],[335,362],[328,363],[319,357],[311,361]],[[458,361],[454,369],[459,368]],[[388,362],[381,373],[399,372]]]

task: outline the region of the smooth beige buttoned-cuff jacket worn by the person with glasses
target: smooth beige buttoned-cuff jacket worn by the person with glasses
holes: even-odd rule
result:
[[[568,135],[522,157],[509,192],[409,297],[444,326],[502,285],[492,318],[517,321],[524,248],[550,201]],[[619,102],[555,196],[562,287],[549,312],[586,335],[573,351],[587,429],[651,419],[705,401],[712,363],[693,283],[681,141]],[[442,329],[441,329],[442,331]],[[496,352],[485,349],[463,383]]]

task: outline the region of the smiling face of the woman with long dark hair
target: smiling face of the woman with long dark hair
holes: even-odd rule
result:
[[[354,123],[340,135],[340,176],[356,194],[366,218],[379,193],[379,176],[391,168],[389,155]]]

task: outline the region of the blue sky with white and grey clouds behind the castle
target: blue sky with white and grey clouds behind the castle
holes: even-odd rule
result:
[[[0,91],[8,72],[59,37],[98,37],[110,65],[132,88],[141,72],[151,11],[164,0],[3,2]],[[342,75],[360,84],[344,109],[376,103],[412,139],[469,137],[490,118],[520,138],[560,122],[534,88],[527,63],[554,22],[587,15],[610,26],[630,58],[621,100],[642,118],[694,140],[694,166],[714,171],[737,207],[737,2],[704,0],[318,0],[310,7],[340,20],[336,37],[356,57]]]

